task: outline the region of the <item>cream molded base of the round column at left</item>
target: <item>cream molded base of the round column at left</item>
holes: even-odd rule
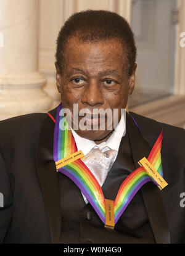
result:
[[[44,81],[44,77],[38,72],[0,75],[1,120],[15,115],[46,111],[51,99],[47,99],[43,92]]]

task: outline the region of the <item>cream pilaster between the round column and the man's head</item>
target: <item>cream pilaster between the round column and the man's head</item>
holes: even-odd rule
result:
[[[55,83],[56,39],[65,20],[75,12],[76,0],[39,0],[39,4],[39,70],[46,77],[44,91],[52,97],[52,109],[60,102]]]

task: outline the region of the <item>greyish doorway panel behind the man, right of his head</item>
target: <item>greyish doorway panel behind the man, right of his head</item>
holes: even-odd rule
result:
[[[132,1],[138,72],[130,107],[173,94],[177,6],[178,0]]]

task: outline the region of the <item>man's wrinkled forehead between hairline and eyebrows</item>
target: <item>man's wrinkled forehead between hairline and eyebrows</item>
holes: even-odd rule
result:
[[[69,66],[104,68],[113,67],[128,71],[126,47],[117,39],[82,41],[76,37],[68,39],[65,49],[65,64]],[[124,72],[124,73],[125,73]]]

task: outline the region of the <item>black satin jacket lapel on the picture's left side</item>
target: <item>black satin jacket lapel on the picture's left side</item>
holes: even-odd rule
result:
[[[55,110],[51,114],[55,117]],[[59,243],[61,229],[61,209],[59,181],[53,160],[54,125],[51,118],[46,115],[39,132],[38,148],[36,151],[36,165],[39,183],[43,191],[44,201],[51,228],[51,242]]]

